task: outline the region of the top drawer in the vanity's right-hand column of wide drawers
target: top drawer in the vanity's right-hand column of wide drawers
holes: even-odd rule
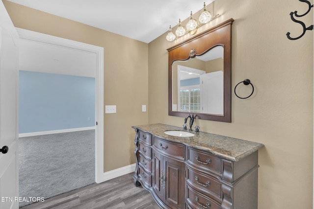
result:
[[[207,152],[189,147],[187,149],[187,162],[191,165],[212,171],[219,175],[222,174],[221,159]]]

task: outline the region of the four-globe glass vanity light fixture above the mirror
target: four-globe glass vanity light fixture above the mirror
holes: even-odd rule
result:
[[[218,15],[219,14],[211,16],[210,12],[206,10],[206,4],[204,2],[204,11],[199,17],[200,23],[198,23],[196,20],[192,18],[192,11],[191,11],[190,20],[186,24],[186,28],[181,25],[181,20],[179,19],[179,26],[176,30],[176,35],[171,32],[171,26],[170,26],[170,30],[169,30],[168,35],[166,36],[166,39],[167,41],[170,41],[170,42],[174,41],[175,39],[181,36],[184,36],[189,31],[193,31],[197,29],[198,27],[200,27],[201,25],[208,23],[212,19],[216,18]]]

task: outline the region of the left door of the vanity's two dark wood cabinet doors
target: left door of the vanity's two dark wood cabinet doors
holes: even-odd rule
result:
[[[159,197],[159,199],[163,198],[163,193],[165,190],[164,185],[164,169],[162,167],[162,155],[158,152],[153,152],[153,189],[155,194]]]

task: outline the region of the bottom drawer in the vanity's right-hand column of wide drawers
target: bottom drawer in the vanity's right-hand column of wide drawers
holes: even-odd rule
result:
[[[186,203],[190,209],[221,209],[221,204],[187,186]]]

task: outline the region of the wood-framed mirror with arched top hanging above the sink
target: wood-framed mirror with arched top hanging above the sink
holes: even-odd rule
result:
[[[168,115],[231,122],[230,19],[168,48]]]

